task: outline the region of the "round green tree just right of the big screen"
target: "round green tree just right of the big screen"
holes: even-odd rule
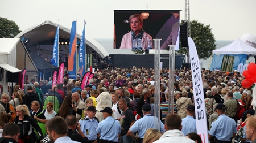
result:
[[[184,20],[181,21],[184,24]],[[212,55],[212,50],[216,49],[215,38],[212,33],[210,25],[204,25],[197,20],[190,22],[191,38],[195,42],[197,54],[199,59],[207,59]],[[177,51],[179,54],[186,54],[188,52],[187,47],[181,47]]]

